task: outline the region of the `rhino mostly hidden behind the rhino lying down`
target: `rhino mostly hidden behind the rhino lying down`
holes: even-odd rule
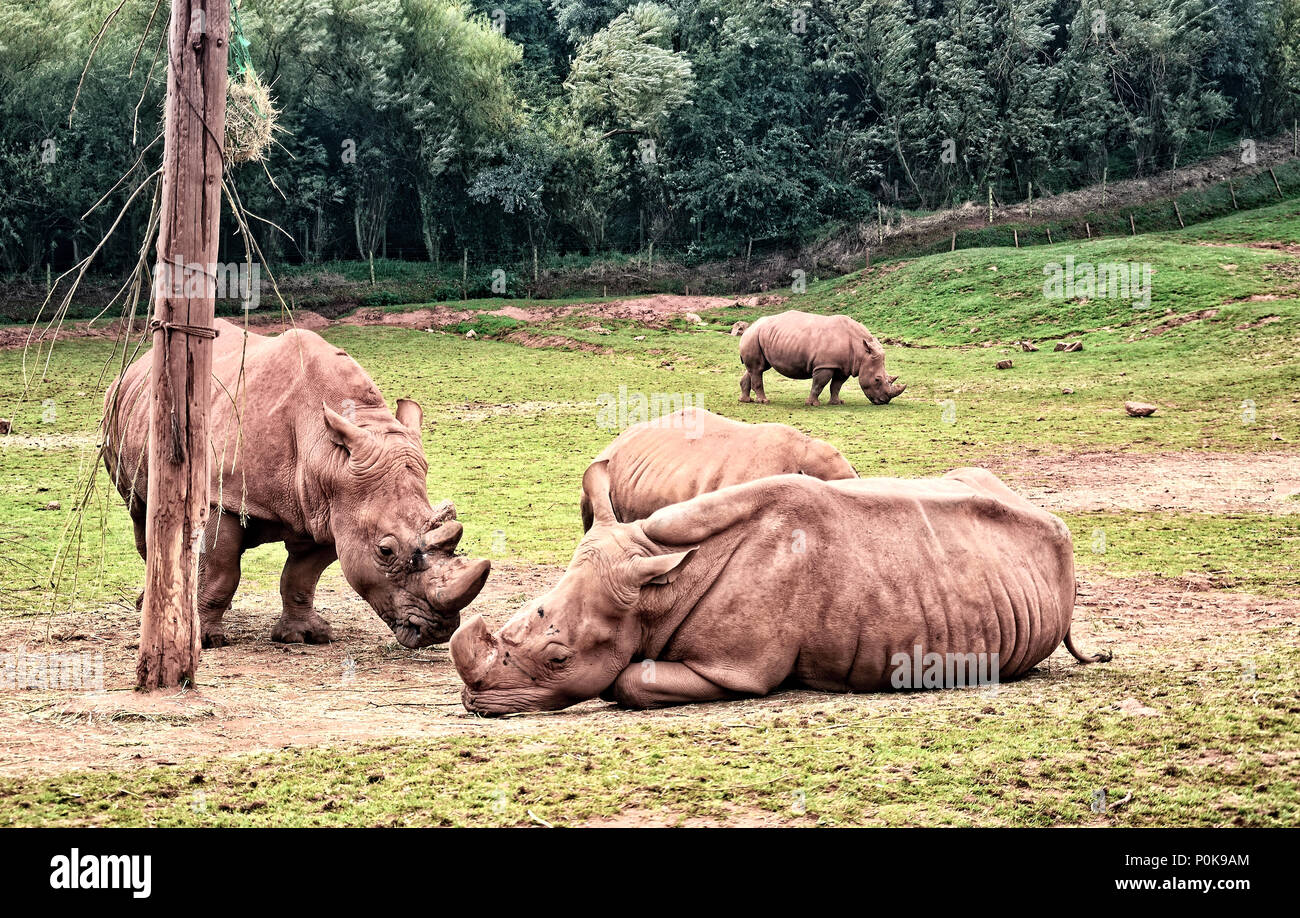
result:
[[[610,502],[624,523],[770,475],[801,473],[824,481],[858,477],[824,439],[785,424],[744,424],[703,408],[633,424],[594,462],[610,463]],[[593,512],[585,493],[581,506],[586,532]]]

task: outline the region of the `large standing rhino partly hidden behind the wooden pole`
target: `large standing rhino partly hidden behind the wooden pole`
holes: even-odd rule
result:
[[[216,322],[212,342],[211,501],[199,568],[203,646],[226,642],[221,619],[246,549],[283,542],[283,614],[274,641],[322,644],[316,584],[335,559],[407,648],[446,641],[482,589],[490,562],[454,555],[450,501],[429,505],[420,406],[396,416],[365,371],[313,332],[274,338]],[[247,345],[244,343],[247,339]],[[148,494],[150,358],[104,399],[104,464],[126,501],[143,558]]]

